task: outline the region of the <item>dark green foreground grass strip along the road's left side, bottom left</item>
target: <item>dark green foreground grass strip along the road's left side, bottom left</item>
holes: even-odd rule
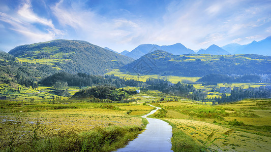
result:
[[[50,138],[33,136],[28,142],[8,142],[1,151],[113,151],[124,147],[137,137],[143,128],[139,126],[97,127],[91,131],[76,133],[61,131]]]

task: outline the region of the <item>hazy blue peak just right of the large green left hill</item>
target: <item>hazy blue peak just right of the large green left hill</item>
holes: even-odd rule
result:
[[[149,53],[149,52],[153,52],[156,50],[159,50],[161,47],[158,45],[153,45],[153,44],[143,44],[143,45],[139,45],[138,47],[136,47],[134,50],[132,50],[131,52],[127,53],[126,56],[129,56],[133,59],[138,59],[141,56]]]

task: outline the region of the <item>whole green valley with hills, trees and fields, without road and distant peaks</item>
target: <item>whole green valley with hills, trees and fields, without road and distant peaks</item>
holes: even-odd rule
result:
[[[271,148],[269,56],[133,60],[67,40],[0,55],[1,150],[114,151],[144,132],[148,104],[161,108],[149,118],[171,125],[173,151]]]

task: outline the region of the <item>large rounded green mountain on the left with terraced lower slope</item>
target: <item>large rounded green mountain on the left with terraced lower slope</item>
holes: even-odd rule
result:
[[[22,62],[48,64],[70,73],[103,74],[133,61],[127,56],[77,40],[53,40],[23,45],[9,53]]]

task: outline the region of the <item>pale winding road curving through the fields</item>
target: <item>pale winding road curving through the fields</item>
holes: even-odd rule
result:
[[[155,110],[142,117],[146,118],[147,116],[155,113],[158,109],[160,108],[156,107]],[[126,147],[117,149],[117,152],[173,151],[171,150],[170,142],[170,138],[172,137],[172,127],[168,123],[159,119],[146,119],[149,122],[146,126],[146,130],[139,134],[136,139],[130,141]]]

